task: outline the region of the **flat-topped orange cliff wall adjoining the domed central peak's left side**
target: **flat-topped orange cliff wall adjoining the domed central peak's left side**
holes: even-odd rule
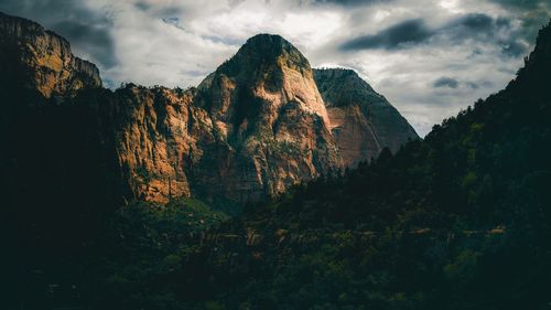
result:
[[[114,119],[111,132],[131,197],[166,201],[190,196],[183,159],[195,151],[191,147],[193,128],[188,128],[196,117],[192,94],[128,85],[109,95],[107,117]]]

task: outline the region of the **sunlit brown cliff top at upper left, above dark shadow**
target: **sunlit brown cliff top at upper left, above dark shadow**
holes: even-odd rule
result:
[[[101,87],[98,68],[75,57],[65,39],[37,23],[0,12],[0,45],[3,70],[46,98]]]

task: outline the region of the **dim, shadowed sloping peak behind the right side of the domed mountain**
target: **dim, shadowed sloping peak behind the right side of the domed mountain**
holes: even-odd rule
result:
[[[396,152],[408,139],[419,138],[400,113],[354,71],[314,70],[314,77],[346,165],[377,158],[385,147]]]

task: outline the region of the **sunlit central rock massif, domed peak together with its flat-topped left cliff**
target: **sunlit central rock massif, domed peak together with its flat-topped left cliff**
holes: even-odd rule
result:
[[[145,200],[258,201],[342,168],[310,64],[278,35],[250,39],[197,89],[114,100],[120,164]]]

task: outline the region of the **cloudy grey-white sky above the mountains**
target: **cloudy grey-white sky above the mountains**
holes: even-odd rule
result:
[[[501,89],[550,0],[2,0],[96,63],[105,84],[197,85],[257,33],[281,34],[312,66],[356,70],[424,136]]]

